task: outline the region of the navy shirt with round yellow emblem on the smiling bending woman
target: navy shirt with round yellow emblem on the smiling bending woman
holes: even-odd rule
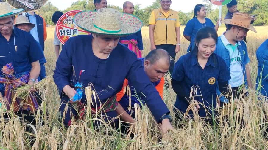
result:
[[[184,87],[188,93],[190,93],[192,87],[193,91],[197,89],[197,93],[192,94],[194,99],[205,104],[208,107],[206,108],[207,111],[212,114],[212,106],[216,108],[216,81],[226,82],[231,77],[224,60],[218,55],[213,53],[203,69],[198,63],[197,55],[190,52],[181,56],[175,63],[172,79],[182,81],[183,85],[181,87]],[[175,107],[185,113],[188,106],[189,102],[186,98],[177,95]],[[200,107],[199,115],[201,117],[207,116],[205,108],[201,105]],[[189,114],[192,114],[192,111]]]

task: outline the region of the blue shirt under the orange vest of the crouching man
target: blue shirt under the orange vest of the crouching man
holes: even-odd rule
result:
[[[138,59],[141,60],[141,65],[144,68],[144,66],[143,66],[144,58],[138,58]],[[154,86],[157,86],[159,83],[160,83],[160,80],[157,82],[152,82],[152,84],[154,84]],[[137,92],[132,83],[128,82],[128,86],[130,87],[130,91],[131,91],[131,104],[130,104],[131,108],[134,107],[135,103],[138,103],[140,105],[140,107],[144,106],[144,104],[145,104],[144,95],[142,93]],[[127,110],[128,105],[129,105],[129,95],[124,94],[124,96],[121,98],[119,103],[125,110]]]

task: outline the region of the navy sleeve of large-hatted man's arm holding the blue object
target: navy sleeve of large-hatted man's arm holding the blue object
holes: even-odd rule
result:
[[[70,85],[69,79],[72,74],[72,53],[72,44],[68,41],[66,42],[66,46],[63,47],[56,62],[56,69],[53,75],[54,82],[60,92],[62,92],[64,86]]]

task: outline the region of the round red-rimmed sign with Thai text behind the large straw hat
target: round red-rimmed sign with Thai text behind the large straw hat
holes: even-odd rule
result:
[[[79,28],[73,21],[74,16],[82,12],[81,10],[72,10],[66,12],[60,17],[56,25],[56,34],[62,44],[70,39],[71,37],[78,35],[89,35],[90,33]]]

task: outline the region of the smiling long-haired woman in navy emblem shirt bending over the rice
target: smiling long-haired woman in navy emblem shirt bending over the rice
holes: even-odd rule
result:
[[[224,60],[214,53],[217,37],[212,27],[199,29],[194,50],[181,56],[175,63],[172,74],[172,88],[177,94],[175,112],[186,113],[191,97],[200,117],[212,116],[212,110],[217,105],[216,82],[221,92],[227,92],[231,77]],[[191,92],[193,97],[190,96]],[[191,116],[193,112],[190,110],[188,114]]]

